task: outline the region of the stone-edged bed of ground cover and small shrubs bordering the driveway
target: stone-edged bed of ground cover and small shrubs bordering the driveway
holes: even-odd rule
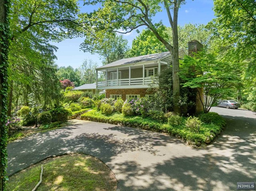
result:
[[[126,113],[119,112],[106,115],[101,111],[92,110],[82,114],[81,119],[164,132],[184,141],[191,140],[194,144],[200,145],[201,143],[210,143],[214,140],[225,125],[223,118],[216,113],[214,113],[214,116],[218,116],[217,122],[215,120],[204,120],[207,116],[211,115],[212,112],[210,114],[201,114],[198,118],[188,118],[169,114],[169,116],[167,115],[168,118],[158,120],[151,116],[129,116]]]

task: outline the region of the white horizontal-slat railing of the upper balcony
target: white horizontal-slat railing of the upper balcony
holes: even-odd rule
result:
[[[144,82],[143,82],[144,81]],[[122,85],[144,85],[144,84],[152,84],[152,78],[131,78],[131,79],[116,79],[116,80],[108,80],[108,81],[98,81],[97,87],[103,86],[122,86]]]

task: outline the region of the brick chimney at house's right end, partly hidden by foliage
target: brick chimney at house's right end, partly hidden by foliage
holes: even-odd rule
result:
[[[192,40],[188,42],[188,55],[193,56],[193,53],[197,53],[198,51],[202,51],[203,45],[198,42],[197,40]],[[197,72],[199,74],[199,72]],[[202,105],[201,100],[204,100],[204,89],[197,88],[197,93],[196,93],[196,110],[195,112],[201,112],[204,111],[204,106]]]

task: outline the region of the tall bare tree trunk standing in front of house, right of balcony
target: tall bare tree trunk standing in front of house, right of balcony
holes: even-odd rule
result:
[[[174,6],[172,25],[172,89],[174,100],[174,112],[181,114],[178,102],[180,100],[180,65],[179,65],[179,43],[178,43],[178,7]]]

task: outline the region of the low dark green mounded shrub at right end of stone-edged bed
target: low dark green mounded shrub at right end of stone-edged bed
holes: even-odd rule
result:
[[[215,112],[200,114],[198,118],[204,123],[212,123],[218,126],[224,126],[226,124],[222,116]]]

